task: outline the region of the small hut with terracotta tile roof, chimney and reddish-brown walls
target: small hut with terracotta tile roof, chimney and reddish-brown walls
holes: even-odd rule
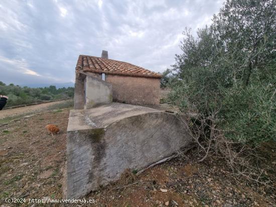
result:
[[[160,100],[162,75],[130,63],[80,55],[76,66],[75,109],[120,102],[156,105]]]

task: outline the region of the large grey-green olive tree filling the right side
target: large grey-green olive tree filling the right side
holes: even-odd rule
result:
[[[275,139],[275,6],[271,0],[226,1],[197,38],[184,32],[169,99],[201,120],[208,117],[199,123],[206,124],[206,135],[214,125],[243,144]]]

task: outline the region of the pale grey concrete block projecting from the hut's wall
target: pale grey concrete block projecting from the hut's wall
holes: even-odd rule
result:
[[[86,76],[85,109],[112,102],[112,85],[100,79]]]

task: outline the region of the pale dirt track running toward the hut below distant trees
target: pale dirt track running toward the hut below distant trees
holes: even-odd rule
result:
[[[11,117],[11,116],[19,116],[22,114],[27,114],[29,112],[33,111],[42,111],[43,109],[47,109],[49,106],[56,105],[56,104],[62,104],[66,103],[68,100],[62,100],[62,101],[55,101],[55,102],[49,102],[49,103],[42,103],[38,105],[33,106],[26,106],[21,108],[15,108],[15,109],[7,109],[0,111],[0,117]]]

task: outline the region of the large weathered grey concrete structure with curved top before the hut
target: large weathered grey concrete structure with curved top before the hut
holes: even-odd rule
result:
[[[67,197],[77,198],[190,148],[184,124],[171,113],[112,103],[71,110],[67,129]]]

